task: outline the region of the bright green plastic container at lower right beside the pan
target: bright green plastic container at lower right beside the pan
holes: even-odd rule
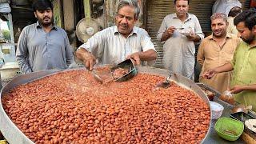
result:
[[[228,141],[236,141],[244,130],[242,122],[232,118],[219,118],[214,129],[217,134]]]

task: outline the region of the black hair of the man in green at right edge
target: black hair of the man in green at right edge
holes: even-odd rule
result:
[[[252,30],[256,25],[256,9],[250,8],[238,14],[238,16],[234,18],[234,26],[237,26],[239,22],[245,22],[245,26],[248,27],[249,30]]]

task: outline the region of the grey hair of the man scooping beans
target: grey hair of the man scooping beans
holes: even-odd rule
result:
[[[138,1],[137,0],[121,0],[118,3],[118,11],[120,9],[122,9],[123,6],[132,6],[132,7],[134,7],[134,18],[136,20],[138,20],[139,13],[140,13],[141,10],[138,6]]]

